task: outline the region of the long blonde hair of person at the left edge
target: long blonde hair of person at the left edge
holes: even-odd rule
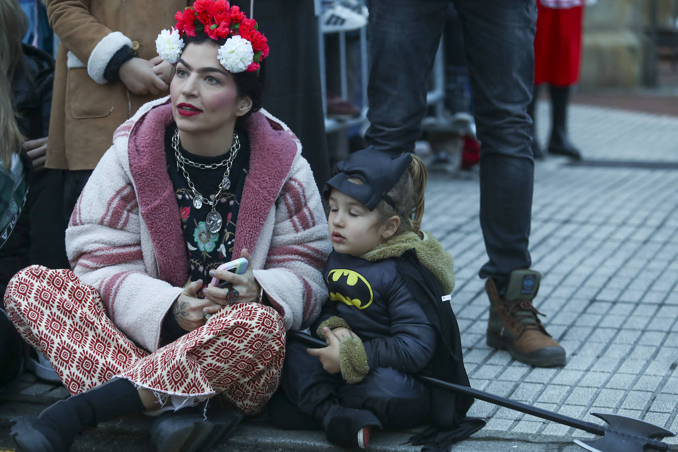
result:
[[[0,158],[7,170],[24,143],[12,110],[12,79],[23,64],[21,41],[27,30],[28,18],[18,1],[0,0]]]

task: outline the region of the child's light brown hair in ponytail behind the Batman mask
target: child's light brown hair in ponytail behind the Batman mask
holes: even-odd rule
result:
[[[412,154],[412,163],[403,173],[397,184],[388,191],[388,197],[395,202],[395,208],[382,200],[376,207],[379,221],[386,222],[388,218],[397,215],[400,226],[393,237],[403,232],[419,232],[424,217],[424,190],[428,182],[428,173],[424,162]]]

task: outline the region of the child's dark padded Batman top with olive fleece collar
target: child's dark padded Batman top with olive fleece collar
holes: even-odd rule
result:
[[[436,332],[417,300],[420,294],[412,293],[398,270],[402,253],[415,247],[424,266],[452,291],[452,258],[430,235],[422,240],[407,232],[360,258],[333,251],[327,259],[323,276],[330,300],[317,325],[331,316],[344,319],[363,341],[370,369],[417,373],[435,351]]]

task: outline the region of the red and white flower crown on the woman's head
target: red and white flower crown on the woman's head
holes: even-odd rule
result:
[[[215,41],[227,38],[217,58],[233,74],[245,70],[258,73],[261,61],[268,56],[268,40],[257,30],[256,21],[226,0],[195,0],[174,18],[176,26],[162,30],[155,40],[158,55],[166,62],[176,64],[185,45],[182,37],[201,31]]]

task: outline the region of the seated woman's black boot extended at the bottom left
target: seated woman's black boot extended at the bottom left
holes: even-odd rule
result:
[[[142,411],[144,404],[134,384],[115,378],[59,400],[38,417],[15,417],[9,436],[22,452],[65,452],[86,427]]]

